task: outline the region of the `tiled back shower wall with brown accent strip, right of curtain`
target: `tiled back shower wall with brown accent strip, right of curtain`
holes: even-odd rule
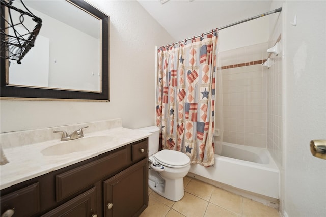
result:
[[[267,57],[267,45],[220,54],[224,142],[267,147],[267,68],[261,66]]]

